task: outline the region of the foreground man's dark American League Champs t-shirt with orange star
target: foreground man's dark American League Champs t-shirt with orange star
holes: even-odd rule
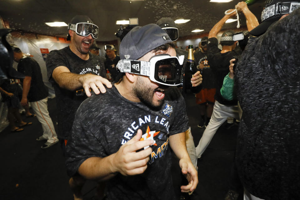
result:
[[[177,88],[175,88],[177,90]],[[118,90],[93,95],[78,108],[72,134],[67,144],[66,166],[74,175],[78,167],[90,157],[107,157],[133,138],[138,129],[144,138],[153,136],[148,168],[143,174],[123,176],[118,173],[107,182],[108,199],[175,199],[171,169],[170,135],[185,132],[188,118],[182,95],[171,98],[165,94],[165,102],[158,111],[144,103],[132,102]]]

